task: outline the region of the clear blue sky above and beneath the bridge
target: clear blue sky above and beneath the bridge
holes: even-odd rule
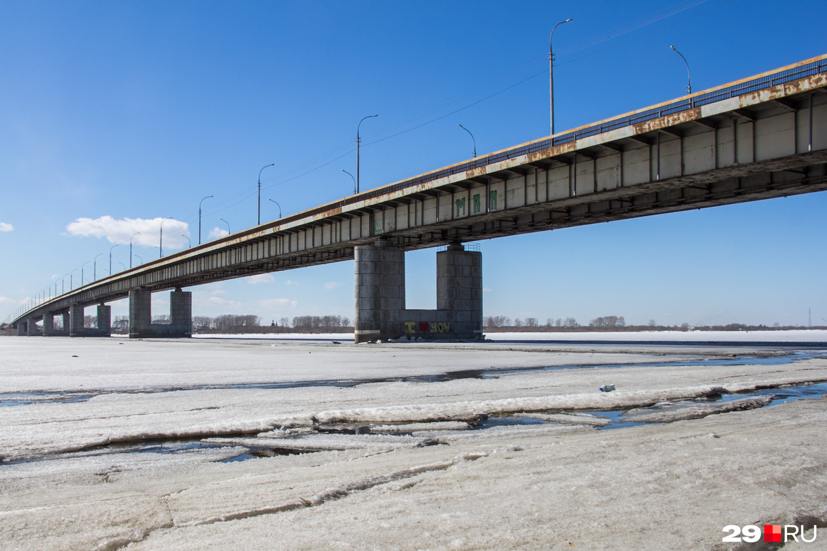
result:
[[[557,21],[574,19],[555,34],[562,131],[684,93],[669,45],[695,90],[825,53],[802,14],[827,4],[0,2],[0,316],[98,254],[108,269],[132,226],[103,216],[171,216],[171,251],[198,239],[208,195],[203,240],[221,219],[253,226],[265,164],[262,220],[267,198],[286,215],[346,196],[362,116],[380,115],[362,125],[363,189],[470,157],[460,123],[480,154],[547,135]],[[485,314],[805,324],[812,307],[822,323],[825,207],[822,192],[484,241]],[[157,257],[156,236],[136,255]],[[407,259],[409,307],[434,307],[434,251]],[[352,317],[352,270],[194,287],[194,314]]]

